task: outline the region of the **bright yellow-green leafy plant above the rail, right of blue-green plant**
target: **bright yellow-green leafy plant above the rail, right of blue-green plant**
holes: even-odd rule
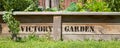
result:
[[[90,3],[85,4],[85,8],[87,11],[93,11],[93,12],[110,12],[111,9],[108,8],[108,4],[104,1],[98,2],[97,0],[94,0]]]

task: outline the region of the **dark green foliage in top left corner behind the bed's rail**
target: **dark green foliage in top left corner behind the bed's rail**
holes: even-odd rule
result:
[[[35,11],[38,6],[34,4],[37,4],[37,0],[1,0],[0,9],[5,11],[9,11],[11,9],[14,9],[14,11],[24,11],[29,6],[33,6],[30,8],[33,8],[32,10]]]

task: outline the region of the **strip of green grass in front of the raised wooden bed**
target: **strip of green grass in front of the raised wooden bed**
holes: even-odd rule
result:
[[[9,38],[0,39],[0,48],[120,48],[120,41],[42,41],[29,39],[14,42]]]

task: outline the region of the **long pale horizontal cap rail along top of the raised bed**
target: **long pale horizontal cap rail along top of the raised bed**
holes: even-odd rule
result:
[[[13,15],[120,15],[120,12],[14,12]]]

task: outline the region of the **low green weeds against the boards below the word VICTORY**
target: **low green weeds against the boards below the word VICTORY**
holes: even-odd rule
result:
[[[36,35],[35,32],[29,34],[27,37],[24,37],[24,41],[37,41],[39,40],[40,42],[46,42],[46,41],[52,41],[50,37],[50,32],[47,32],[46,34],[39,36]]]

